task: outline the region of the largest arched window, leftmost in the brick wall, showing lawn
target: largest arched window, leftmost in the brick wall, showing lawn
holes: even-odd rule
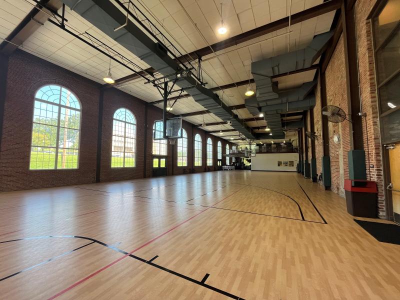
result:
[[[36,91],[29,169],[77,168],[80,102],[68,89],[45,85]]]

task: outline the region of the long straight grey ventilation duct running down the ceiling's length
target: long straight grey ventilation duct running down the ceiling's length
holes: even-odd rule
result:
[[[62,2],[68,7],[73,7],[76,13],[163,76],[179,70],[178,63],[166,53],[163,46],[154,42],[149,35],[129,19],[125,26],[114,31],[114,28],[120,27],[126,22],[126,12],[122,12],[119,7],[115,6],[120,3],[119,0],[115,0],[117,3],[115,5],[108,0],[62,0]],[[180,78],[176,84],[185,88],[196,84],[196,81],[191,77],[184,77]],[[187,92],[196,102],[211,113],[214,113],[224,121],[231,121],[231,126],[246,138],[254,138],[250,132],[251,129],[242,123],[225,104],[221,103],[217,94],[203,86],[187,89]]]

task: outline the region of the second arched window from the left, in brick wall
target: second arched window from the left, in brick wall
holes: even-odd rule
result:
[[[136,166],[136,118],[126,108],[115,111],[112,121],[111,167]]]

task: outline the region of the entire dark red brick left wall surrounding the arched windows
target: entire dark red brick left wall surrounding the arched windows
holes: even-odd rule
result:
[[[29,153],[32,132],[33,97],[36,90],[45,84],[59,84],[70,89],[81,102],[81,136],[79,168],[67,170],[29,170]],[[95,182],[98,103],[101,84],[79,76],[50,62],[17,50],[9,58],[7,87],[4,106],[3,133],[0,149],[0,191],[49,187]],[[147,123],[145,124],[145,106]],[[112,118],[116,109],[128,108],[136,117],[136,166],[133,168],[111,168]],[[101,136],[100,181],[134,179],[143,177],[144,152],[146,152],[147,177],[152,175],[152,126],[154,120],[162,118],[162,110],[124,93],[116,88],[104,90]],[[183,169],[193,167],[193,135],[202,138],[202,165],[196,172],[206,167],[206,139],[211,137],[213,146],[213,166],[217,169],[216,144],[222,141],[225,151],[226,141],[206,133],[203,129],[183,121],[188,137],[188,165],[178,167],[176,143],[167,148],[167,172],[181,174]],[[144,149],[144,134],[147,147]],[[229,143],[231,148],[231,143]],[[225,160],[223,159],[222,162]],[[207,167],[208,169],[208,167]]]

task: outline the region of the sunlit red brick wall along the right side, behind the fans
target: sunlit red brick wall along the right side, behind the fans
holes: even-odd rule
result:
[[[370,20],[367,19],[376,0],[357,0],[355,3],[355,23],[357,31],[358,71],[362,111],[366,113],[366,124],[363,122],[363,140],[366,155],[367,179],[378,184],[378,216],[387,218],[384,198],[384,181],[382,165],[382,146],[380,142],[378,104],[376,95],[375,70]],[[344,64],[343,37],[340,37],[335,51],[325,71],[327,104],[337,105],[347,111],[346,75]],[[321,128],[317,111],[320,110],[319,82],[315,89],[316,105],[314,108],[314,125],[318,134]],[[319,115],[320,117],[320,115]],[[329,151],[332,172],[332,190],[343,194],[343,179],[348,178],[347,151],[349,150],[348,122],[329,123]],[[340,135],[340,143],[333,143],[333,135]],[[317,169],[323,153],[322,143],[315,145]],[[369,155],[368,155],[369,154]],[[368,157],[369,156],[369,157]],[[373,165],[368,168],[369,164]]]

